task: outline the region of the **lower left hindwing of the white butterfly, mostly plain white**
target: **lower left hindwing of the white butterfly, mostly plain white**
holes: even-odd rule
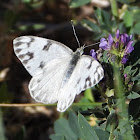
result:
[[[41,74],[31,79],[29,91],[33,99],[45,104],[58,101],[58,92],[69,61],[69,58],[53,60],[47,63]]]

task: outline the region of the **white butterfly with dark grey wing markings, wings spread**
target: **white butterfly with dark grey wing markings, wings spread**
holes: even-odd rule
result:
[[[83,90],[96,85],[104,76],[101,64],[83,55],[84,46],[73,52],[64,44],[36,36],[13,40],[14,52],[32,76],[31,97],[44,104],[57,102],[64,112]]]

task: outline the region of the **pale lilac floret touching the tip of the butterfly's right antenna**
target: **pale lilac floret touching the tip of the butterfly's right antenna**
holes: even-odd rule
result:
[[[109,51],[113,44],[113,37],[111,34],[108,36],[108,41],[105,38],[101,38],[99,47],[103,50]]]

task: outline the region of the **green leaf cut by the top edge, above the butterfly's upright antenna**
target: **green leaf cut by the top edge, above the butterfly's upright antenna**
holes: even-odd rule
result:
[[[71,0],[69,3],[70,8],[80,7],[89,3],[91,0]]]

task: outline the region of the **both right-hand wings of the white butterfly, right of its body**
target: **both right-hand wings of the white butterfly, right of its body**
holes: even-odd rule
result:
[[[65,111],[81,91],[96,85],[104,76],[101,64],[90,56],[79,59],[68,83],[60,90],[57,110]]]

